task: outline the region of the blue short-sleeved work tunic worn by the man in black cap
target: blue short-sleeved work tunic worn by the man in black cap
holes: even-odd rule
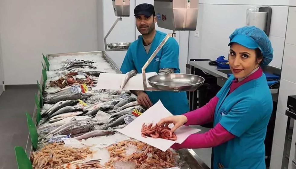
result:
[[[143,38],[140,37],[134,41],[127,50],[127,54],[121,65],[121,72],[127,73],[136,69],[138,73],[142,73],[142,67],[150,58],[155,49],[159,46],[161,41],[166,36],[166,33],[156,31],[155,37],[151,43],[149,53],[143,46]],[[146,72],[159,73],[159,69],[174,68],[175,73],[180,73],[179,69],[179,45],[177,41],[170,37],[165,45],[160,49],[152,62],[146,68]],[[172,91],[145,91],[149,96],[152,104],[161,100],[162,104],[173,115],[183,114],[189,111],[188,100],[186,92],[172,92]]]

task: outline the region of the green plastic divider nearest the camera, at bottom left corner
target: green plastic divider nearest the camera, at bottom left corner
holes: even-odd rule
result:
[[[18,163],[18,169],[33,169],[30,159],[28,158],[24,148],[14,147],[16,162]]]

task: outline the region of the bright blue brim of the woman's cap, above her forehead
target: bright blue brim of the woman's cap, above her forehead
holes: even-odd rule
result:
[[[230,41],[228,46],[230,46],[232,43],[238,43],[242,46],[245,46],[246,48],[249,49],[256,49],[259,48],[258,43],[256,43],[253,38],[248,37],[246,35],[236,35],[233,37],[233,39]]]

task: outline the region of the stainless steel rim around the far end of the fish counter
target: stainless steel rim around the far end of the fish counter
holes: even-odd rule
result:
[[[108,56],[108,54],[105,51],[92,51],[92,52],[77,52],[77,53],[57,53],[57,54],[49,54],[46,55],[48,58],[50,57],[59,57],[59,56],[75,56],[75,55],[88,55],[88,54],[101,54],[102,57],[106,60],[107,63],[111,65],[111,67],[115,70],[116,73],[121,73],[120,69],[117,67],[115,62]]]

